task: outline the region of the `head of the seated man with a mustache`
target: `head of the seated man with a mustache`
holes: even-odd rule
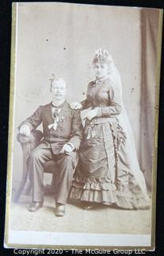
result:
[[[66,94],[66,84],[62,80],[53,81],[50,89],[53,99],[57,101],[64,100]]]

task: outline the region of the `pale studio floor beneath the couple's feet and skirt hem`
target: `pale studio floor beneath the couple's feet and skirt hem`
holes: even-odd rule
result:
[[[18,203],[12,202],[10,207],[12,230],[150,234],[151,210],[120,210],[109,206],[84,210],[77,203],[68,202],[64,217],[56,217],[53,195],[45,195],[43,208],[35,213],[28,210],[30,201],[31,195],[22,194]]]

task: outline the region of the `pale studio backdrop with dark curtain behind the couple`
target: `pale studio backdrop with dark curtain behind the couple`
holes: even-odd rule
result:
[[[14,174],[21,179],[18,125],[50,102],[49,78],[64,78],[68,102],[84,100],[97,48],[107,49],[123,84],[123,102],[141,169],[151,187],[159,10],[69,3],[19,3],[14,91]]]

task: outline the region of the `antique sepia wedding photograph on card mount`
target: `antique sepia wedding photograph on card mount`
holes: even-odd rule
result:
[[[162,10],[16,2],[6,248],[155,248]]]

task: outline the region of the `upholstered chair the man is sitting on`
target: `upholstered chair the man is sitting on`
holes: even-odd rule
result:
[[[18,134],[17,136],[18,142],[20,142],[21,144],[21,149],[23,153],[23,166],[22,166],[23,170],[22,170],[21,182],[18,186],[18,190],[16,194],[14,195],[14,202],[18,202],[21,196],[21,193],[25,188],[25,183],[28,178],[29,170],[27,168],[26,160],[29,157],[30,152],[39,144],[42,137],[43,137],[43,134],[41,133],[41,130],[34,130],[28,138],[22,134]],[[45,173],[53,174],[51,186],[55,186],[57,162],[53,160],[45,162],[44,170],[45,170]],[[25,194],[29,194],[31,189],[32,189],[32,184],[31,182],[29,182],[29,186],[27,187]]]

